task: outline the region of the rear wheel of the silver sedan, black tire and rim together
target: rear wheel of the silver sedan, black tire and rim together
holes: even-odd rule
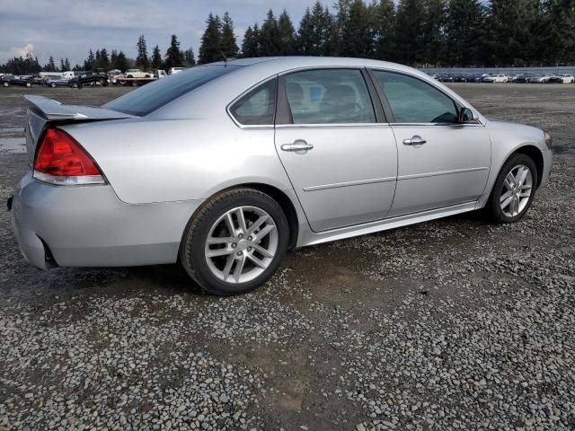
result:
[[[239,295],[273,276],[288,251],[288,237],[288,219],[273,198],[256,189],[229,189],[192,216],[180,260],[208,293]]]

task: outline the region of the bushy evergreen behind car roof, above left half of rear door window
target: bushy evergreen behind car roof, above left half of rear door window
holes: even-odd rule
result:
[[[304,56],[330,56],[335,51],[334,19],[327,7],[318,1],[305,10],[297,31],[297,51]]]

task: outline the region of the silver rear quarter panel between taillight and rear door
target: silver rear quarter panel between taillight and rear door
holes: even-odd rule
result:
[[[238,128],[224,109],[210,119],[126,119],[64,128],[126,203],[203,199],[247,182],[291,189],[273,128]]]

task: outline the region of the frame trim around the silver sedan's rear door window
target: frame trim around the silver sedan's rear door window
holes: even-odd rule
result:
[[[341,69],[349,69],[349,70],[358,70],[361,73],[361,76],[364,80],[364,83],[367,87],[367,94],[369,96],[369,100],[371,102],[372,109],[374,110],[374,116],[376,118],[376,122],[374,123],[319,123],[319,124],[294,124],[294,119],[291,114],[291,109],[289,108],[288,102],[288,95],[286,93],[286,76],[291,74],[296,74],[297,72],[304,72],[310,70],[341,70]],[[287,70],[279,74],[279,82],[278,82],[278,95],[276,98],[276,122],[275,125],[279,127],[345,127],[345,126],[373,126],[378,125],[381,123],[385,123],[385,114],[383,110],[379,110],[378,113],[378,103],[380,101],[374,99],[373,91],[376,90],[376,85],[367,79],[366,67],[364,66],[309,66],[309,67],[299,67],[296,69]],[[373,89],[371,85],[373,85]],[[383,116],[380,117],[380,116]]]

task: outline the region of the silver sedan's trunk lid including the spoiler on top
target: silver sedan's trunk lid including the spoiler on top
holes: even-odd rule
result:
[[[89,121],[102,121],[109,119],[129,119],[133,115],[117,110],[104,110],[90,106],[64,105],[44,96],[25,95],[24,99],[30,102],[28,109],[28,122],[26,124],[26,152],[28,160],[34,163],[36,146],[42,132],[48,126],[57,124],[83,123]]]

